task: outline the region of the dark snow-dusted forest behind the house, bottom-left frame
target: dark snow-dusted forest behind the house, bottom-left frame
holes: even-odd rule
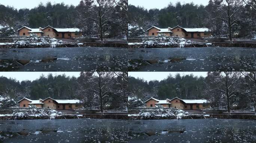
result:
[[[24,97],[32,100],[77,98],[85,108],[122,110],[128,100],[127,77],[127,72],[81,72],[78,78],[48,74],[33,81],[1,76],[0,102],[5,104],[12,99],[17,102]],[[13,102],[10,105],[13,107]]]

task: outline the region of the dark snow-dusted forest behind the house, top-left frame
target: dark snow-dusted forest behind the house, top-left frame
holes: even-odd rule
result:
[[[77,6],[47,2],[33,9],[15,9],[0,2],[0,25],[15,30],[22,26],[77,27],[83,30],[84,36],[120,38],[127,34],[127,7],[127,0],[81,0]]]

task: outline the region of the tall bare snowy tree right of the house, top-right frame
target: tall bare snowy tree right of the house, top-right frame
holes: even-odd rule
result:
[[[243,8],[243,0],[225,0],[218,7],[219,18],[228,23],[229,39],[232,42],[232,26],[240,19],[236,14]]]

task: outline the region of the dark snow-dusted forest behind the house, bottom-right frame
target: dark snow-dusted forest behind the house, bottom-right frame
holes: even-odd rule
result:
[[[205,98],[211,101],[213,108],[252,111],[256,107],[256,72],[208,72],[206,77],[176,74],[161,81],[131,76],[128,79],[132,102],[146,101],[150,97],[160,100]]]

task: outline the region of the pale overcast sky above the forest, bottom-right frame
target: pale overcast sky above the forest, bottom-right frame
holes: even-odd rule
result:
[[[143,78],[144,80],[150,81],[150,80],[163,80],[167,78],[169,74],[172,74],[175,76],[175,74],[180,73],[180,75],[186,75],[186,74],[193,74],[195,76],[207,76],[207,72],[128,72],[129,76],[133,76],[135,78]]]

